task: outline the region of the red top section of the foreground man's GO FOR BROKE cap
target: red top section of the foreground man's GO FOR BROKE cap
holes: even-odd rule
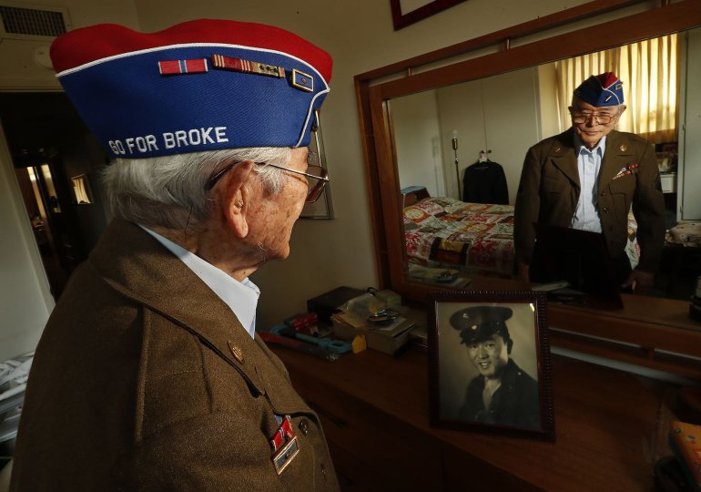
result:
[[[51,59],[56,72],[62,72],[108,56],[191,43],[221,43],[280,51],[304,60],[316,68],[327,83],[330,81],[331,57],[320,47],[279,27],[232,20],[193,20],[156,33],[139,33],[116,24],[83,27],[57,37],[51,45]]]

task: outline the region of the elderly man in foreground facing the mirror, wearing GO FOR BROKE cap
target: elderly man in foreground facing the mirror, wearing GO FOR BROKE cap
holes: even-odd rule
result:
[[[335,490],[320,420],[255,333],[248,280],[290,252],[331,59],[198,20],[56,39],[57,77],[117,161],[116,216],[46,325],[12,490]]]

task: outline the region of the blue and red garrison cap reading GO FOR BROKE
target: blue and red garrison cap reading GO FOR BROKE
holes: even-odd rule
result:
[[[144,34],[102,24],[59,36],[51,58],[115,157],[304,147],[331,57],[278,27],[201,19]]]

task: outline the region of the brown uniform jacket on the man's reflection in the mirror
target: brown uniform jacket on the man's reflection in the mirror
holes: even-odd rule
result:
[[[570,227],[581,190],[576,152],[573,128],[528,150],[514,210],[517,263],[530,264],[533,258],[533,222]],[[631,168],[633,164],[636,167]],[[623,168],[634,172],[614,179]],[[653,145],[632,133],[612,130],[597,184],[596,205],[611,255],[624,254],[632,204],[640,244],[637,268],[655,272],[665,246],[665,200]]]

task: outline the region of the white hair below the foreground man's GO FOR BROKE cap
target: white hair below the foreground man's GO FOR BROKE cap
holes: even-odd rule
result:
[[[262,147],[193,152],[147,159],[116,159],[103,173],[112,212],[119,218],[168,229],[197,227],[208,218],[208,180],[233,163],[253,160],[287,167],[292,149]],[[270,194],[282,190],[283,170],[254,166]]]

